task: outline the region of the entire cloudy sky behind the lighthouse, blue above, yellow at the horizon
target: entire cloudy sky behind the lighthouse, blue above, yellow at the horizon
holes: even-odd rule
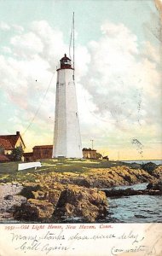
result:
[[[52,144],[56,67],[69,55],[83,148],[111,160],[162,155],[161,0],[0,0],[0,134]],[[158,9],[159,8],[159,9]]]

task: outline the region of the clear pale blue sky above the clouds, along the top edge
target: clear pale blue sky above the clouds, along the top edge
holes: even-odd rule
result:
[[[79,44],[99,38],[101,23],[107,19],[114,23],[123,23],[142,41],[146,38],[144,25],[149,23],[153,13],[157,12],[152,0],[6,0],[0,1],[0,4],[1,20],[4,22],[20,24],[27,29],[32,20],[48,20],[50,26],[61,29],[67,43],[74,11]],[[1,38],[1,41],[5,42],[5,39]],[[155,38],[151,40],[156,41]]]

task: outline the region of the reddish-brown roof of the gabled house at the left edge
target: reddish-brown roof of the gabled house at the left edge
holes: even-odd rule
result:
[[[17,131],[14,135],[0,135],[0,147],[3,147],[6,150],[12,150],[17,143],[19,137],[24,147],[26,148],[26,145],[23,142],[19,131]]]

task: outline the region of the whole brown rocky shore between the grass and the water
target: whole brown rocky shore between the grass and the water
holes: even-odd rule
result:
[[[21,183],[0,183],[0,220],[10,218],[26,222],[61,222],[65,218],[81,218],[83,222],[95,222],[107,214],[107,196],[142,193],[130,190],[116,192],[113,189],[107,192],[101,189],[148,183],[147,191],[141,195],[161,195],[162,166],[151,168],[149,165],[149,171],[147,168],[144,170],[147,166],[143,166],[143,169],[142,166],[137,167],[140,168],[91,168],[83,173],[33,172],[32,183],[27,178],[26,182]]]

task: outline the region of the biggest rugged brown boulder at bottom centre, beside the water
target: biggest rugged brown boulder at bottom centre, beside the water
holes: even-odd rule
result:
[[[54,218],[59,216],[84,218],[94,222],[107,213],[107,197],[104,192],[96,189],[85,189],[78,186],[69,186],[61,192],[57,203]]]

